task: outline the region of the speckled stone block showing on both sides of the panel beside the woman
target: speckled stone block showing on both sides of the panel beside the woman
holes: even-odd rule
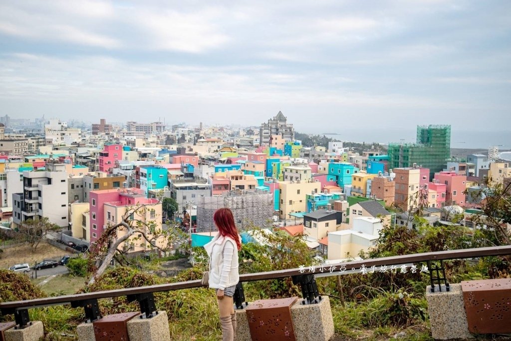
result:
[[[328,296],[323,296],[318,304],[301,305],[301,300],[291,307],[294,334],[297,340],[328,341],[334,336],[334,319]],[[249,303],[250,305],[250,303]],[[251,341],[245,309],[236,311],[238,328],[236,341]]]

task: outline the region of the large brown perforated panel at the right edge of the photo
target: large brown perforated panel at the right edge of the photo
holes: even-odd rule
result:
[[[471,333],[511,332],[511,279],[461,282]]]

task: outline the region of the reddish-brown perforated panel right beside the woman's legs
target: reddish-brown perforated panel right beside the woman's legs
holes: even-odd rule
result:
[[[291,306],[296,300],[291,297],[251,303],[246,312],[252,341],[296,340],[291,319]]]

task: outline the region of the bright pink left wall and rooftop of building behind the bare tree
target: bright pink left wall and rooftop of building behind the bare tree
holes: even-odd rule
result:
[[[96,241],[108,224],[108,222],[105,221],[105,204],[114,204],[114,206],[120,207],[137,204],[154,204],[157,202],[157,199],[146,198],[144,191],[137,188],[90,191],[90,242]]]

